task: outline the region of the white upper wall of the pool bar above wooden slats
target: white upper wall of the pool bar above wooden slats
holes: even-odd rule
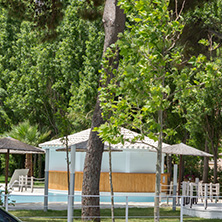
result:
[[[103,153],[102,172],[109,172],[108,152]],[[85,152],[76,153],[76,171],[83,171]],[[66,171],[66,153],[50,149],[49,170]],[[162,164],[163,168],[163,164]],[[112,152],[113,172],[155,173],[156,153],[147,150],[123,150]]]

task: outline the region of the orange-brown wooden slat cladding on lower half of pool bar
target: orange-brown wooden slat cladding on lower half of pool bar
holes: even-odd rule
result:
[[[114,192],[154,192],[155,177],[153,173],[113,173]],[[163,183],[165,176],[165,183]],[[167,185],[168,174],[161,175],[161,183]],[[75,174],[75,190],[82,190],[83,172]],[[67,174],[65,171],[49,172],[49,189],[67,190]],[[100,191],[109,192],[109,173],[100,175]]]

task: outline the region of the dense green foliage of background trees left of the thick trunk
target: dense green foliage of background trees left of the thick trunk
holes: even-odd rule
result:
[[[54,42],[41,42],[34,23],[17,22],[0,8],[2,132],[28,119],[40,129],[48,126],[52,135],[61,134],[61,116],[69,119],[70,131],[89,127],[103,32],[100,21],[80,18],[81,7],[82,2],[70,2]]]

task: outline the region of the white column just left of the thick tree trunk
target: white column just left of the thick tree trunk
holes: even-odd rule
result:
[[[76,164],[76,145],[73,145],[71,146],[70,194],[68,196],[68,222],[73,221],[74,193],[75,193],[75,164]]]

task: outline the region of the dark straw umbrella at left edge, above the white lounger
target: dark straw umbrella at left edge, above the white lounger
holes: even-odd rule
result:
[[[9,154],[44,154],[45,151],[41,148],[31,146],[11,137],[0,138],[0,153],[6,153],[5,165],[5,193],[7,193],[8,186],[8,168],[9,168]]]

